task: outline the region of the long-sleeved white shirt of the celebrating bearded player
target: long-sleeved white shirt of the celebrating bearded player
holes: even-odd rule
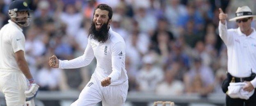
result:
[[[84,55],[73,60],[59,60],[59,68],[87,66],[95,56],[97,66],[93,76],[99,81],[111,77],[111,85],[119,85],[128,80],[125,69],[125,42],[111,27],[109,34],[110,38],[104,43],[89,38]]]

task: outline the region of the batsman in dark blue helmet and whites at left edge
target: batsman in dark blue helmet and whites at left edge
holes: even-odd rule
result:
[[[22,27],[29,26],[29,11],[23,0],[11,2],[8,9],[9,23],[0,30],[0,92],[5,95],[7,106],[33,106],[39,88],[25,60]]]

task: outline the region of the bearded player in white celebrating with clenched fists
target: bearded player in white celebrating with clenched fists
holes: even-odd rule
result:
[[[78,100],[71,106],[123,106],[128,92],[128,76],[125,69],[125,42],[110,24],[112,8],[98,4],[89,29],[88,44],[82,56],[73,60],[58,60],[50,57],[53,68],[80,68],[87,66],[96,57],[97,66],[91,80],[82,90]]]

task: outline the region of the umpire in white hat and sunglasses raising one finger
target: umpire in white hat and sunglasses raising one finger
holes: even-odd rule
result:
[[[254,91],[256,87],[256,31],[251,28],[252,15],[248,6],[238,7],[236,17],[237,29],[227,29],[227,14],[219,9],[219,36],[228,50],[228,73],[222,84],[224,93],[228,91],[231,79],[234,82],[245,82],[244,91]],[[226,106],[256,106],[256,92],[249,99],[231,98],[226,95]]]

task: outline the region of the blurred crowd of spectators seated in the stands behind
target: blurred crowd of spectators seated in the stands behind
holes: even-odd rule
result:
[[[71,60],[85,51],[94,7],[113,9],[111,28],[126,42],[129,90],[156,95],[222,93],[226,46],[218,35],[219,10],[229,17],[238,6],[256,11],[255,0],[25,0],[32,11],[25,27],[25,53],[41,91],[82,88],[96,60],[77,69],[50,68],[49,57]],[[11,0],[0,0],[0,27]],[[255,26],[254,24],[252,25]],[[237,28],[228,22],[228,28]]]

